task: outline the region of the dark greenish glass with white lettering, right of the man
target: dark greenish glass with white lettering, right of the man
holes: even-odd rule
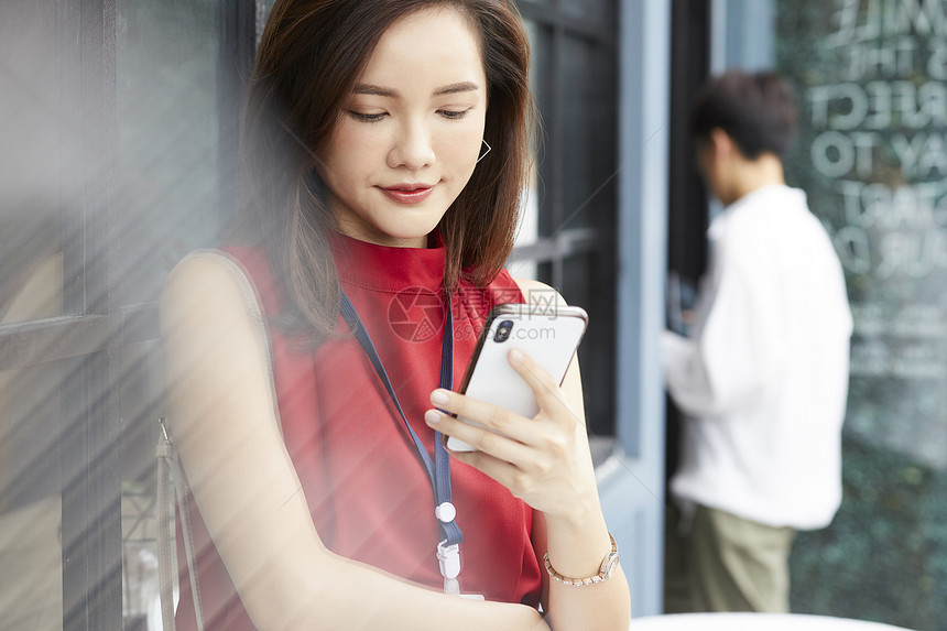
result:
[[[787,174],[836,243],[856,326],[846,496],[830,529],[799,537],[794,608],[934,629],[947,616],[941,7],[775,7],[801,104]]]

